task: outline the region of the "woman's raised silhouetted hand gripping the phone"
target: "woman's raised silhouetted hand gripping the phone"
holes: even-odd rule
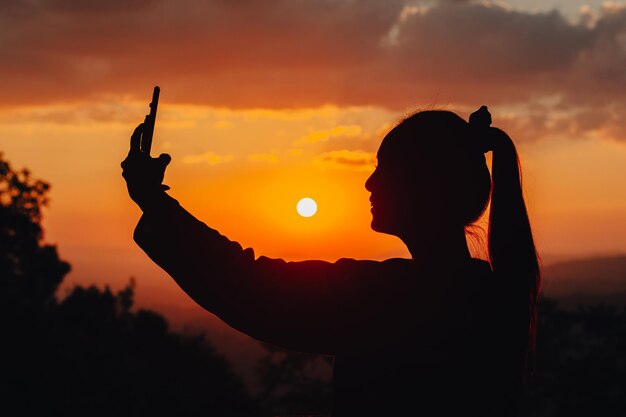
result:
[[[122,161],[122,177],[126,180],[126,187],[130,198],[146,211],[151,203],[156,202],[164,190],[169,190],[167,185],[161,184],[165,176],[165,168],[172,158],[162,153],[158,158],[140,149],[143,123],[137,126],[130,138],[130,150],[128,156]]]

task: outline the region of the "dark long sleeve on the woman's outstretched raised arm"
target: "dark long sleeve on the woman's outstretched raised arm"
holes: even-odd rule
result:
[[[199,305],[233,328],[288,349],[335,354],[369,334],[374,261],[285,262],[243,250],[165,193],[144,212],[135,242]],[[384,298],[384,297],[383,297]]]

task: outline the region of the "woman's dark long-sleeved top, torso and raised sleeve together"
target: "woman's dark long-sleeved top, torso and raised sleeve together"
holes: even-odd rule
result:
[[[507,415],[509,292],[486,262],[255,259],[169,197],[135,241],[235,329],[334,355],[334,417]]]

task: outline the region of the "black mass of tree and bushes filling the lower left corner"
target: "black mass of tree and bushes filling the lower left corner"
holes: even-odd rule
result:
[[[2,413],[11,416],[254,416],[256,402],[202,336],[133,311],[134,282],[55,292],[69,271],[43,243],[50,186],[0,156]]]

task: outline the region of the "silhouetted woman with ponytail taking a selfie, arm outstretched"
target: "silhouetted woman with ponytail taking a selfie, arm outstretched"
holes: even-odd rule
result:
[[[532,352],[539,267],[511,139],[481,107],[418,112],[393,128],[365,183],[372,228],[412,259],[256,258],[161,185],[168,155],[122,163],[143,215],[137,244],[206,310],[256,339],[334,355],[332,415],[506,416]],[[484,153],[493,151],[490,176]],[[465,228],[491,197],[489,259]]]

